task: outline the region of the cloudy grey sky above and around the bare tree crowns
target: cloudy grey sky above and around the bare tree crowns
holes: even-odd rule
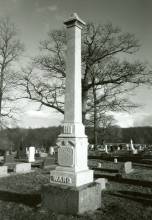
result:
[[[104,24],[111,21],[124,32],[134,33],[141,42],[137,59],[152,66],[152,1],[151,0],[0,0],[0,16],[10,16],[19,27],[20,38],[26,45],[26,56],[38,52],[39,41],[50,29],[63,27],[63,21],[77,12],[84,21]],[[140,88],[131,99],[142,107],[128,113],[115,114],[118,124],[152,126],[152,89]],[[37,112],[33,104],[22,102],[25,112],[20,126],[47,127],[61,123],[63,116],[44,108]]]

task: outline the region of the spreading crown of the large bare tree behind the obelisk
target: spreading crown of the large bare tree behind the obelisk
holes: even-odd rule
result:
[[[86,26],[82,35],[83,121],[92,111],[92,96],[96,90],[94,103],[100,105],[102,112],[135,106],[124,94],[152,82],[152,73],[143,63],[128,59],[139,48],[134,35],[123,33],[112,24]],[[64,113],[65,31],[49,32],[48,39],[40,43],[40,50],[41,55],[34,59],[35,71],[26,70],[20,82],[24,98]]]

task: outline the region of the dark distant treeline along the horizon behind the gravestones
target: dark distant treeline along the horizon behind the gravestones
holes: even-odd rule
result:
[[[57,136],[62,132],[62,127],[49,128],[12,128],[0,132],[0,148],[18,149],[25,146],[43,146],[48,148],[56,143]],[[111,127],[107,130],[98,129],[98,144],[107,143],[134,143],[152,144],[152,127],[120,128]],[[93,144],[93,128],[86,128],[89,143]]]

